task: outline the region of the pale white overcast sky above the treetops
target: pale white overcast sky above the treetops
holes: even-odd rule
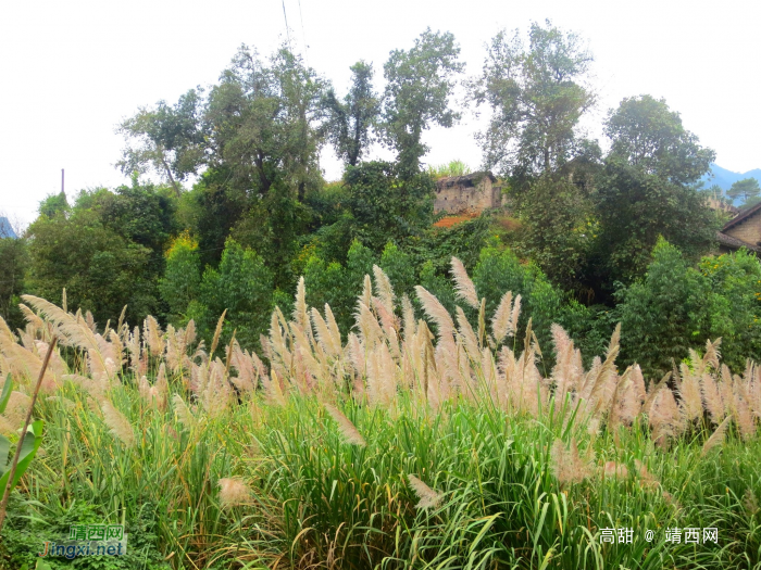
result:
[[[285,11],[285,14],[284,14]],[[481,71],[484,45],[532,21],[579,34],[595,56],[598,105],[585,127],[600,136],[625,97],[664,98],[685,127],[735,172],[761,167],[761,2],[639,0],[93,0],[7,2],[0,22],[0,213],[21,225],[61,189],[114,187],[124,139],[116,125],[139,106],[175,102],[216,81],[238,46],[262,54],[284,40],[339,92],[349,67],[373,62],[376,85],[389,51],[412,47],[426,27],[454,34],[466,75]],[[286,18],[288,34],[286,34]],[[483,118],[482,118],[483,121]],[[481,163],[465,113],[453,128],[425,134],[424,161]],[[386,154],[376,149],[376,156]],[[340,177],[323,151],[328,179]]]

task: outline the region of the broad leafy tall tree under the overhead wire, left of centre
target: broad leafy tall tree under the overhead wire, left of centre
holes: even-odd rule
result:
[[[317,163],[324,81],[282,48],[265,64],[242,46],[209,96],[211,164],[228,169],[228,185],[266,195],[279,191],[303,201],[322,179]]]

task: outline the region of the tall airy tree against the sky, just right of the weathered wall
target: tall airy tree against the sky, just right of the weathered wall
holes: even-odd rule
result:
[[[484,164],[504,176],[556,170],[575,154],[578,119],[595,102],[585,79],[592,62],[582,38],[546,21],[533,23],[528,48],[519,30],[502,30],[487,47],[484,71],[469,97],[491,111],[477,135]]]

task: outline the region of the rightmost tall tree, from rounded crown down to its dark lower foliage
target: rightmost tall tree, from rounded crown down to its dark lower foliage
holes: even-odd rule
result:
[[[611,151],[595,192],[597,287],[643,276],[659,236],[690,257],[706,253],[719,221],[708,194],[691,182],[715,153],[684,129],[678,113],[649,96],[624,99],[609,114],[606,132]]]

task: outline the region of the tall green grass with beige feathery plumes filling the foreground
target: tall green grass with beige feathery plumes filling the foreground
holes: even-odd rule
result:
[[[458,286],[466,290],[465,279]],[[4,567],[34,565],[42,541],[68,524],[124,522],[128,559],[51,559],[52,567],[761,568],[761,442],[747,427],[740,432],[740,416],[723,444],[706,454],[703,443],[715,426],[708,415],[679,429],[671,426],[673,435],[657,442],[653,431],[663,427],[653,425],[647,404],[639,403],[643,409],[631,422],[612,419],[615,394],[628,393],[632,370],[620,375],[613,368],[606,376],[606,363],[598,360],[585,372],[601,382],[600,394],[611,382],[610,397],[595,395],[597,390],[583,397],[584,378],[561,391],[561,376],[572,372],[562,354],[574,350],[563,349],[557,335],[553,377],[540,381],[547,390],[531,392],[537,351],[531,337],[517,358],[522,376],[508,371],[509,346],[521,344],[508,337],[499,351],[507,360],[495,378],[489,367],[498,345],[484,331],[483,311],[477,316],[472,309],[478,332],[459,321],[450,346],[444,315],[425,306],[440,331],[436,347],[425,349],[427,328],[420,321],[413,327],[409,314],[403,326],[395,320],[386,311],[392,296],[382,275],[375,286],[377,296],[365,291],[361,297],[373,306],[358,317],[361,339],[347,343],[357,340],[362,354],[336,352],[326,338],[335,332],[327,315],[326,328],[299,329],[307,309],[297,295],[292,321],[273,318],[264,369],[249,357],[246,372],[247,355],[237,346],[221,347],[216,358],[188,352],[177,362],[169,356],[177,334],[159,331],[161,351],[144,346],[111,378],[87,367],[87,354],[91,362],[92,351],[105,354],[108,347],[88,344],[87,331],[73,333],[84,319],[27,299],[59,331],[68,331],[65,338],[79,340],[63,350],[70,367],[58,367],[58,385],[36,408],[46,422],[45,454],[13,494],[2,534]],[[389,318],[403,339],[397,355],[396,333],[382,329]],[[142,339],[155,339],[155,332],[146,330]],[[46,330],[26,333],[45,338]],[[3,342],[0,353],[10,354],[8,337]],[[477,358],[466,347],[471,342],[482,351]],[[614,359],[615,344],[613,339],[607,360]],[[454,371],[444,372],[439,346],[465,355],[460,364],[470,383],[449,385]],[[710,359],[693,355],[681,381]],[[386,372],[392,377],[383,371],[389,362],[395,368]],[[364,373],[357,371],[358,363]],[[30,376],[34,362],[27,364]],[[721,377],[718,363],[706,366],[707,375]],[[160,387],[164,373],[165,391],[149,394],[144,383],[141,392],[141,376]],[[752,377],[751,393],[754,373],[751,368],[746,375]],[[734,382],[740,390],[740,380]],[[536,402],[524,400],[524,390]],[[128,423],[120,427],[103,414],[102,402]],[[350,425],[336,421],[339,416],[326,404]],[[352,426],[360,439],[349,433]],[[134,443],[124,429],[132,430]],[[606,477],[611,461],[617,476],[610,477],[609,469]],[[419,508],[426,491],[413,487],[410,476],[429,487],[433,506]],[[245,492],[224,496],[220,481],[228,479],[242,483]],[[716,544],[687,544],[684,535],[678,544],[665,541],[668,529],[708,527],[718,529]],[[631,543],[601,543],[602,529],[623,528],[633,530]],[[651,542],[648,530],[654,532]]]

